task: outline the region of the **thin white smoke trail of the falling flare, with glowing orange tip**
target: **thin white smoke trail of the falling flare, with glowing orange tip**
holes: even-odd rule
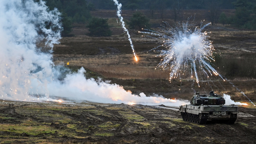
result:
[[[121,16],[121,7],[122,7],[122,4],[121,4],[121,3],[119,4],[117,0],[112,0],[112,1],[114,1],[115,5],[117,5],[117,16],[118,16],[118,18],[119,18],[119,20],[120,20],[120,22],[121,22],[121,25],[122,25],[123,30],[126,32],[126,34],[127,34],[127,36],[128,36],[128,40],[129,40],[129,42],[130,42],[130,46],[132,47],[132,51],[133,51],[133,55],[134,55],[134,57],[135,57],[135,60],[138,61],[138,59],[137,59],[137,54],[135,53],[135,50],[134,50],[134,46],[133,46],[132,39],[130,38],[130,34],[129,34],[127,28],[125,27],[125,24],[124,24],[124,21],[123,21],[123,17]]]

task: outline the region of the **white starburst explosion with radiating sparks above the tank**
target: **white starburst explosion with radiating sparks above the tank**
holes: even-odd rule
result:
[[[181,23],[176,27],[162,28],[161,31],[141,32],[157,36],[158,39],[164,39],[163,44],[151,50],[160,50],[161,62],[158,64],[163,70],[169,69],[170,81],[175,78],[182,79],[184,75],[190,73],[199,86],[197,71],[203,73],[209,78],[209,75],[219,75],[209,63],[214,61],[212,42],[209,41],[208,32],[203,31],[207,25],[192,27],[188,22]],[[222,78],[221,75],[219,75]],[[223,78],[222,78],[223,79]],[[224,79],[223,79],[224,80]],[[225,81],[225,80],[224,80]]]

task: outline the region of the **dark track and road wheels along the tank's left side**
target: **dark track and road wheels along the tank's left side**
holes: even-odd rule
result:
[[[193,122],[198,124],[206,124],[208,119],[207,113],[191,114],[186,112],[181,112],[183,121]]]

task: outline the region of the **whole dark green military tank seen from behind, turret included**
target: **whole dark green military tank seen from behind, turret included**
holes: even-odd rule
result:
[[[180,106],[183,121],[206,124],[208,120],[217,120],[234,124],[238,114],[238,106],[225,105],[222,95],[210,91],[209,95],[197,92],[191,99],[190,105]]]

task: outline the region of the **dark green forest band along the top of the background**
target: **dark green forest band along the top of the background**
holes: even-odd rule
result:
[[[38,1],[38,0],[37,0]],[[71,32],[73,23],[89,23],[87,27],[94,28],[97,25],[96,22],[100,22],[101,25],[97,25],[98,30],[108,29],[105,25],[107,21],[100,20],[102,18],[92,18],[90,11],[96,9],[116,9],[116,5],[112,0],[45,0],[49,9],[55,7],[62,12],[62,23],[64,31],[63,36],[68,35]],[[164,10],[170,9],[173,11],[174,21],[178,21],[178,13],[180,10],[187,9],[206,9],[209,10],[206,17],[212,22],[212,25],[221,23],[223,25],[229,24],[237,28],[243,28],[248,30],[256,30],[256,0],[119,0],[122,3],[122,9],[127,10],[140,10],[147,9],[150,12],[151,17],[154,18],[156,10],[160,11],[161,15],[164,15]],[[235,15],[226,16],[222,9],[235,9]],[[162,13],[161,13],[162,11]],[[136,21],[137,25],[134,25],[132,21]],[[102,25],[103,22],[103,25]],[[141,28],[142,25],[149,26],[149,18],[142,16],[135,12],[129,23],[130,28]],[[99,27],[103,28],[99,28]],[[94,31],[94,30],[92,30]],[[107,30],[107,35],[100,34],[98,36],[109,36],[111,32]],[[95,34],[91,34],[95,35]],[[96,35],[95,35],[96,36]]]

